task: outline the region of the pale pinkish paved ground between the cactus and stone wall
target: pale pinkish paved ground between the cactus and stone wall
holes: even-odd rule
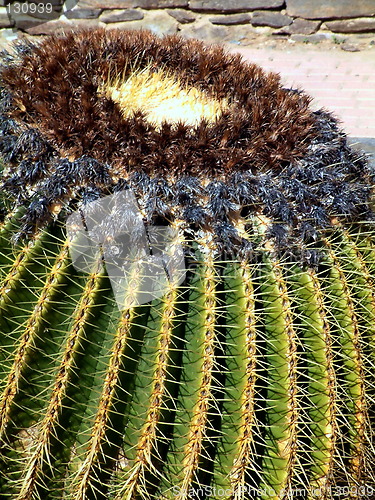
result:
[[[302,88],[341,120],[351,141],[375,161],[375,49],[361,52],[290,48],[236,47],[247,60],[275,71],[288,87]]]

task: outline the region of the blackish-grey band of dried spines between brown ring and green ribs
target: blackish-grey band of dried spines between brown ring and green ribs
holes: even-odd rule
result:
[[[330,117],[320,117],[324,124],[329,120]],[[39,144],[40,135],[33,131],[27,135],[31,136],[33,143]],[[315,146],[313,142],[311,154],[300,164],[286,166],[277,176],[273,170],[258,175],[237,172],[226,180],[208,184],[198,177],[182,176],[168,181],[142,171],[115,181],[109,165],[87,156],[74,161],[55,159],[48,169],[42,160],[33,162],[28,157],[8,176],[3,189],[17,203],[26,205],[21,237],[29,237],[60,212],[69,213],[77,203],[86,204],[131,188],[146,223],[170,224],[180,219],[186,229],[209,229],[218,252],[232,257],[253,256],[256,244],[251,238],[252,218],[263,214],[270,221],[266,239],[272,240],[277,251],[289,252],[300,261],[316,265],[318,253],[308,247],[331,226],[332,218],[372,219],[369,181],[373,174],[364,158],[348,149],[337,132],[329,151],[324,146],[323,154]],[[38,151],[42,148],[35,147]],[[43,151],[47,149],[44,147]],[[29,163],[26,172],[25,165]],[[39,164],[44,165],[43,169]],[[243,237],[238,231],[239,217],[250,237]]]

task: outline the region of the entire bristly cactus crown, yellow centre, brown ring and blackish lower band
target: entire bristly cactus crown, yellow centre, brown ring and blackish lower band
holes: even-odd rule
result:
[[[337,217],[372,216],[373,172],[336,120],[221,47],[50,36],[3,54],[0,85],[3,188],[27,207],[22,235],[130,187],[148,223],[182,221],[237,255],[272,240],[313,263],[308,245]]]

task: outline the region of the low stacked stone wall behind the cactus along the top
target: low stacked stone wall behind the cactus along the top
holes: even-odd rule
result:
[[[244,44],[262,33],[320,41],[348,34],[375,35],[375,0],[79,0],[57,19],[25,15],[11,23],[0,7],[0,36],[30,35],[84,26],[151,29],[209,41]],[[4,2],[0,2],[0,5]]]

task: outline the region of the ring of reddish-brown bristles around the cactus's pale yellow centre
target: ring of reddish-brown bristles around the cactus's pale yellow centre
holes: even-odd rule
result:
[[[193,128],[165,122],[156,129],[141,112],[124,119],[98,87],[135,67],[165,68],[208,98],[227,99],[230,110],[214,125],[202,119]],[[134,166],[178,176],[276,167],[303,155],[314,126],[309,98],[282,89],[277,75],[177,36],[104,29],[51,36],[4,69],[2,80],[13,116],[41,130],[61,154],[89,154],[122,175]]]

